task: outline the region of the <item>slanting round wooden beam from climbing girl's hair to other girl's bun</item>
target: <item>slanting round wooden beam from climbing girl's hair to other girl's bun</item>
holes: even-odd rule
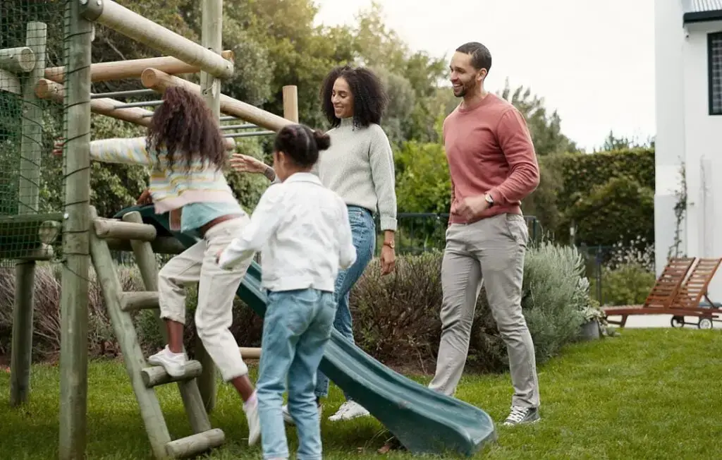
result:
[[[141,74],[141,82],[144,87],[157,92],[165,92],[169,87],[184,87],[187,90],[201,94],[201,87],[198,84],[188,82],[186,79],[166,74],[159,69],[145,69]],[[271,131],[279,131],[282,127],[293,123],[286,118],[266,112],[254,105],[243,103],[227,95],[221,95],[221,111],[232,116],[261,126]]]

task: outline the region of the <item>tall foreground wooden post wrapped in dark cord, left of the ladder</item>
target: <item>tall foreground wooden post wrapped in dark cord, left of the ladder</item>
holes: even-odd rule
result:
[[[90,266],[90,46],[92,24],[69,1],[65,119],[65,215],[61,283],[60,460],[84,458]]]

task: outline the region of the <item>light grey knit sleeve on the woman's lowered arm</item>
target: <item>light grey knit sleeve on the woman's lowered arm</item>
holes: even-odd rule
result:
[[[378,200],[381,230],[396,231],[396,178],[393,170],[393,152],[386,133],[380,126],[372,131],[369,162],[371,178]]]

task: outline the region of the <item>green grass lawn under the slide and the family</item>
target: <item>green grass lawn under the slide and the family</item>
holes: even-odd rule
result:
[[[151,459],[149,445],[123,365],[90,364],[88,445],[90,460]],[[428,377],[414,377],[426,383]],[[567,347],[539,368],[541,416],[536,425],[502,428],[499,441],[477,455],[489,459],[715,459],[722,457],[722,337],[718,330],[627,329],[621,337]],[[465,376],[457,396],[495,420],[508,412],[507,375]],[[159,390],[170,432],[189,435],[178,390]],[[35,365],[31,402],[11,409],[9,374],[0,375],[0,458],[57,458],[58,368]],[[367,417],[331,423],[341,403],[332,386],[322,425],[324,459],[379,456],[383,427]],[[219,386],[214,427],[227,443],[207,458],[259,459],[245,441],[239,399]],[[291,448],[295,431],[288,430]],[[12,454],[11,454],[12,453]],[[11,454],[11,455],[8,455]],[[411,454],[391,453],[391,459]]]

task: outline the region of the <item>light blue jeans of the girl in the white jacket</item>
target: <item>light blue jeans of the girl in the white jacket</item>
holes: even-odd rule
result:
[[[298,433],[296,458],[321,460],[321,426],[313,387],[334,316],[333,292],[268,292],[256,383],[264,459],[289,456],[281,409],[288,384],[288,409]]]

